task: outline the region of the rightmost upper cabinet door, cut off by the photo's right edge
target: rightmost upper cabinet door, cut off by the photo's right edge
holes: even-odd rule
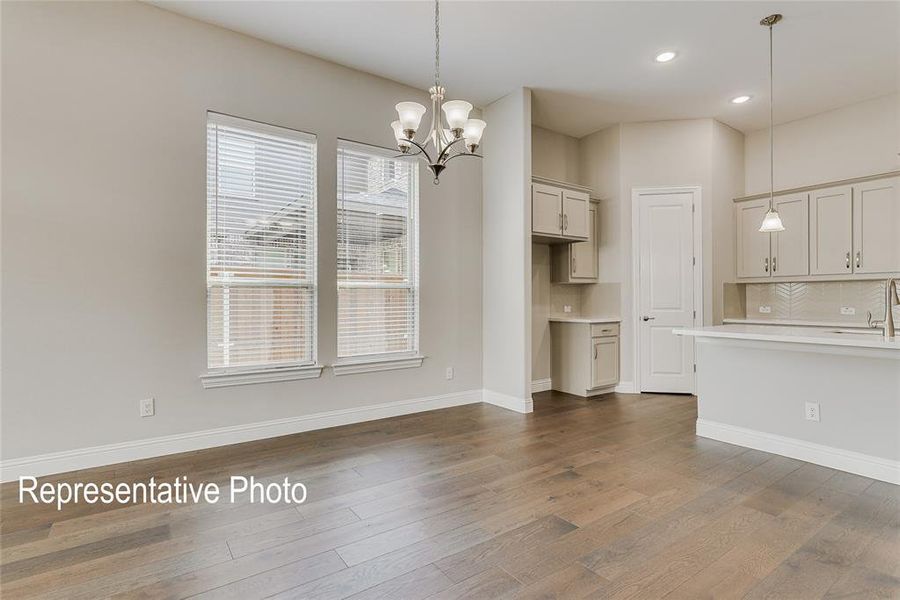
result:
[[[853,186],[856,273],[900,271],[900,179]]]

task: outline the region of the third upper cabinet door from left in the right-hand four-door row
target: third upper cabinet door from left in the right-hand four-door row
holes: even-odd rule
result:
[[[853,193],[850,186],[816,190],[809,196],[809,272],[851,273]]]

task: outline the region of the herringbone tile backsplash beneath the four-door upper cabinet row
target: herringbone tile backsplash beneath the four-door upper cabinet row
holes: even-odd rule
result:
[[[884,281],[751,283],[747,318],[865,325],[866,311],[884,315]]]

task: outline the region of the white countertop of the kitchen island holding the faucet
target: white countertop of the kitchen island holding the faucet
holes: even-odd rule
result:
[[[840,329],[838,327],[825,329],[821,327],[782,327],[777,325],[717,325],[714,327],[673,329],[672,333],[695,337],[900,350],[900,336],[895,337],[893,340],[885,340],[880,330],[872,332],[850,330],[852,333],[837,333],[836,330]]]

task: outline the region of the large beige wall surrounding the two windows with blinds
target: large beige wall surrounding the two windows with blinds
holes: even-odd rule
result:
[[[2,87],[4,459],[481,388],[479,161],[440,186],[420,171],[423,367],[198,379],[206,110],[318,135],[329,363],[337,138],[389,145],[393,105],[424,92],[146,4],[83,2],[2,3]]]

